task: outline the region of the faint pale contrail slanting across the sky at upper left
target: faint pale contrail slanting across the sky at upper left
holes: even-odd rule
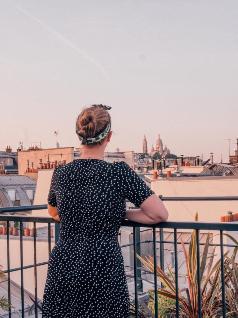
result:
[[[12,3],[11,1],[9,1],[15,8],[17,8],[18,10],[22,11],[24,14],[26,14],[27,16],[29,16],[30,18],[32,18],[33,20],[35,20],[36,22],[38,22],[39,24],[41,24],[45,29],[47,29],[48,31],[50,31],[51,33],[53,33],[55,35],[55,37],[57,37],[58,39],[60,39],[62,42],[64,42],[65,44],[67,44],[71,49],[73,49],[74,51],[78,52],[83,58],[87,59],[90,63],[92,63],[93,65],[95,65],[97,68],[100,69],[100,71],[103,73],[103,75],[107,78],[107,80],[110,82],[110,78],[108,73],[106,72],[106,70],[104,69],[103,66],[101,66],[99,64],[99,62],[97,60],[95,60],[93,57],[91,57],[90,55],[88,55],[86,52],[80,50],[80,48],[75,45],[74,43],[72,43],[71,41],[69,41],[67,38],[63,37],[59,32],[55,31],[54,29],[52,29],[51,27],[49,27],[47,24],[45,24],[44,22],[42,22],[41,20],[37,19],[36,17],[34,17],[33,15],[31,15],[28,11],[20,8],[19,6],[17,6],[16,4]]]

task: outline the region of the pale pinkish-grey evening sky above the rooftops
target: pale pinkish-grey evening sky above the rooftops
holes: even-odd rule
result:
[[[80,147],[83,107],[112,107],[107,151],[228,161],[238,137],[238,2],[0,0],[0,150]]]

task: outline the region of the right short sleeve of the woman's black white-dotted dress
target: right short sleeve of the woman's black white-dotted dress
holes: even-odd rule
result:
[[[119,179],[122,196],[137,207],[155,193],[124,161],[119,162]]]

